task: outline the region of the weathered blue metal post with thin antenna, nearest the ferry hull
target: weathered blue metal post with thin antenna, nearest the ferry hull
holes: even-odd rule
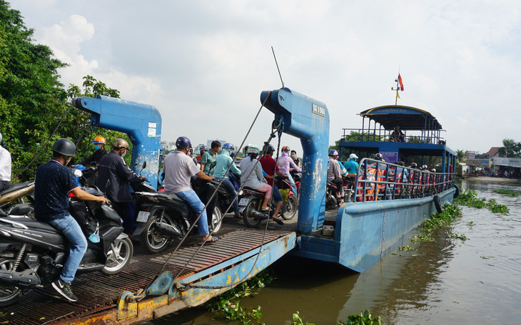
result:
[[[266,98],[269,96],[268,100]],[[283,123],[283,132],[300,138],[303,177],[297,227],[312,232],[324,223],[328,175],[329,113],[325,104],[288,88],[263,91],[260,102]]]

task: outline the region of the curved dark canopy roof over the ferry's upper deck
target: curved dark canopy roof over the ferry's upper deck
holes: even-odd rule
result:
[[[382,125],[386,130],[400,126],[400,130],[441,130],[441,124],[426,110],[410,106],[385,105],[360,112],[363,118],[369,118]]]

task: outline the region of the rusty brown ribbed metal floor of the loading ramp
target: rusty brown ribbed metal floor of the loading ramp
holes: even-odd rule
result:
[[[188,243],[183,244],[178,252],[173,254],[164,271],[171,271],[176,277],[184,268],[178,276],[183,279],[227,259],[258,249],[263,239],[264,243],[271,242],[290,232],[288,229],[270,227],[264,234],[264,229],[246,229],[243,226],[232,226],[223,230],[226,233],[220,236],[218,242],[206,244],[195,256],[200,246],[200,237],[188,237]],[[148,287],[161,271],[174,247],[175,245],[162,254],[146,254],[139,244],[135,243],[131,264],[119,274],[107,276],[101,272],[94,272],[76,277],[73,282],[74,294],[79,298],[76,303],[71,304],[59,298],[52,287],[36,289],[22,296],[16,304],[0,309],[5,314],[0,321],[9,321],[9,324],[52,324],[71,317],[112,309],[123,292],[137,292],[138,289]]]

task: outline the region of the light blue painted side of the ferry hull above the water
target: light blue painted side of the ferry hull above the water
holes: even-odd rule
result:
[[[454,192],[440,193],[441,204],[452,204]],[[348,203],[338,210],[333,237],[303,234],[291,253],[363,272],[436,212],[433,197]]]

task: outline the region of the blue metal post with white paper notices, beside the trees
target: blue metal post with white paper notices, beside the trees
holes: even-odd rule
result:
[[[159,172],[159,153],[161,146],[161,114],[152,105],[134,103],[127,100],[96,95],[76,97],[72,101],[75,108],[92,114],[94,125],[108,130],[126,133],[133,145],[131,169],[141,172],[157,188]],[[111,139],[116,140],[116,139]],[[107,149],[111,150],[111,143]]]

